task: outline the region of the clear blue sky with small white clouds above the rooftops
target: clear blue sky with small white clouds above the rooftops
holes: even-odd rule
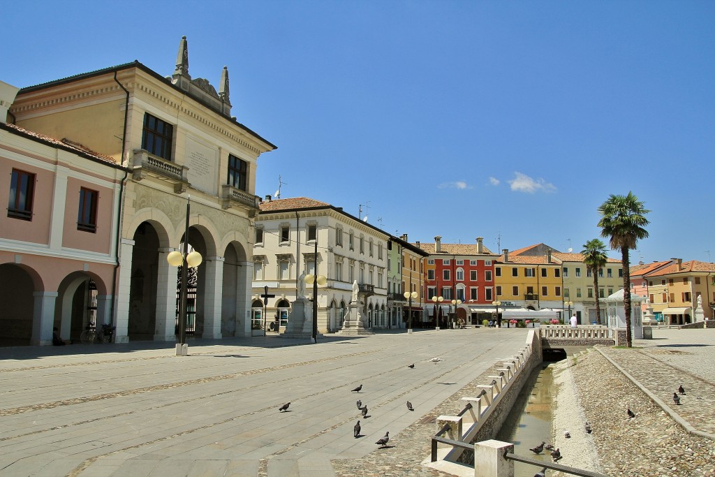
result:
[[[0,79],[18,87],[138,59],[218,85],[277,145],[256,194],[313,197],[410,241],[493,251],[598,237],[633,191],[631,260],[711,261],[712,1],[25,1]],[[604,240],[607,242],[607,240]],[[620,257],[618,252],[609,252]],[[712,257],[711,257],[712,255]]]

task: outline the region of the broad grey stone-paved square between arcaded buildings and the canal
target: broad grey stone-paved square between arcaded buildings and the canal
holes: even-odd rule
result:
[[[44,472],[53,461],[61,462],[59,475],[71,476],[140,477],[164,468],[267,476],[287,465],[280,461],[295,461],[296,475],[332,477],[330,458],[372,453],[388,428],[397,439],[525,338],[523,330],[472,329],[318,345],[207,340],[189,345],[185,358],[157,343],[0,348],[0,476]],[[435,355],[445,361],[430,363]],[[413,362],[415,370],[406,368]],[[356,383],[365,392],[350,393]],[[355,440],[357,398],[373,417]],[[287,400],[295,414],[277,413]],[[174,472],[182,460],[194,466]]]

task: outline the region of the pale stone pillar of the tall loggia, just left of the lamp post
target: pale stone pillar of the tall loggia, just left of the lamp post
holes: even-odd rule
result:
[[[173,248],[159,249],[157,266],[157,311],[154,325],[154,341],[176,340],[177,319],[177,267],[167,262]]]

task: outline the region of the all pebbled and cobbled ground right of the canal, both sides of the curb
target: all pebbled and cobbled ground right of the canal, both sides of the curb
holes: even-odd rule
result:
[[[654,338],[658,339],[636,340],[631,349],[599,347],[556,366],[557,373],[570,371],[573,376],[571,382],[561,379],[558,390],[553,428],[556,444],[564,446],[560,463],[588,468],[591,456],[597,456],[599,471],[608,476],[715,476],[715,441],[688,433],[644,391],[656,395],[696,430],[715,434],[715,333],[656,330]],[[686,388],[686,395],[681,396],[681,405],[675,405],[672,395],[679,385]],[[576,414],[583,411],[593,433],[581,452],[571,453],[569,443],[563,444],[561,428],[563,416],[573,408]],[[628,408],[635,418],[628,418]],[[571,431],[572,436],[586,433],[583,421],[576,420],[572,427],[576,431]]]

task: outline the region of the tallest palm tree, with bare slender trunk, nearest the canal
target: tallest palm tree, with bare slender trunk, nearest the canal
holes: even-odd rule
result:
[[[621,262],[623,263],[623,307],[626,312],[626,345],[631,348],[633,337],[631,336],[631,272],[629,267],[631,260],[628,258],[628,250],[636,248],[638,240],[648,237],[648,231],[644,228],[649,224],[646,214],[650,210],[644,208],[644,202],[638,200],[633,192],[628,195],[613,195],[608,197],[598,207],[601,220],[598,227],[601,227],[601,237],[610,237],[609,245],[612,250],[621,250]]]

